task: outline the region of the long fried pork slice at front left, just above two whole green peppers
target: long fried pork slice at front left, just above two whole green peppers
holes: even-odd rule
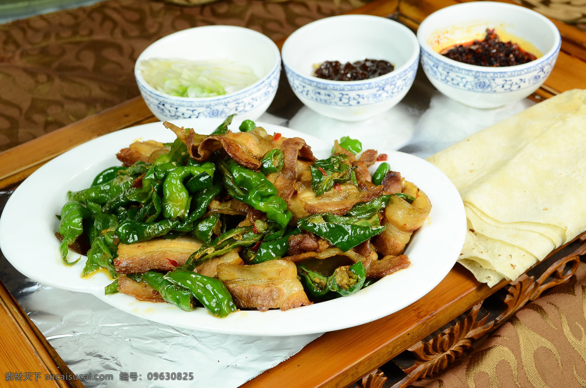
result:
[[[142,274],[149,270],[172,271],[185,264],[202,244],[202,241],[188,236],[118,244],[118,257],[114,260],[116,272]]]

